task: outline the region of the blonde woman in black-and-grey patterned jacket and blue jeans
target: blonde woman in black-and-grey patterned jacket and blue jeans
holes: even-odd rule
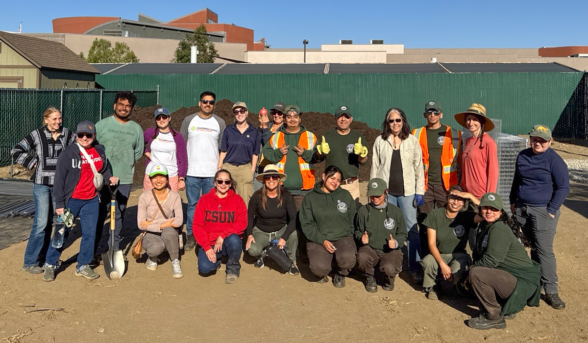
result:
[[[55,205],[53,182],[57,157],[66,146],[75,142],[75,135],[62,126],[61,112],[49,107],[43,113],[43,126],[28,134],[11,150],[15,163],[26,169],[35,169],[31,178],[35,201],[35,219],[29,241],[26,244],[25,261],[22,270],[41,274],[45,254],[51,238],[52,219]],[[35,154],[29,155],[29,150]]]

